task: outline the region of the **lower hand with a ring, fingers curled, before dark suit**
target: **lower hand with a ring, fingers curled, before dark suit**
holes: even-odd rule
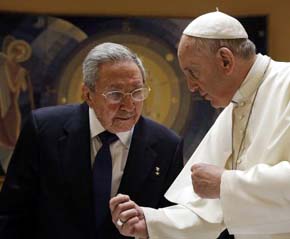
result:
[[[144,213],[129,196],[118,194],[110,200],[112,221],[124,236],[148,238]]]

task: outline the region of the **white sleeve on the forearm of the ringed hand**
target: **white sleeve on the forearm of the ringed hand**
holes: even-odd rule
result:
[[[213,239],[225,229],[223,224],[208,223],[182,205],[142,209],[150,239]]]

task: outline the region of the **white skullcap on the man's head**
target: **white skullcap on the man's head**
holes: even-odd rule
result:
[[[219,11],[197,17],[184,29],[183,34],[208,39],[248,38],[245,28],[237,19]]]

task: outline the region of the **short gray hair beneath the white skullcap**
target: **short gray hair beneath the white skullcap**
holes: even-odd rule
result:
[[[217,53],[221,47],[226,47],[242,59],[250,59],[256,54],[256,46],[249,39],[205,39],[194,38],[194,46],[197,49],[208,49],[210,53]]]

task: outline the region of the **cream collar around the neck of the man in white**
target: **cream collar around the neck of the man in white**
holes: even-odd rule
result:
[[[268,56],[263,56],[261,54],[257,55],[256,60],[245,80],[232,98],[232,102],[240,103],[249,100],[264,80],[264,75],[270,61],[271,58]]]

